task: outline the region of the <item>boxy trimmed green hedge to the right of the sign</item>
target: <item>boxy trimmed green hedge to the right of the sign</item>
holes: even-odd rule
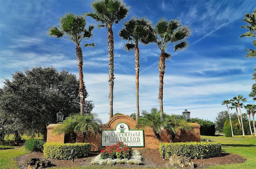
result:
[[[163,153],[162,146],[165,148],[166,157],[176,154],[191,159],[207,159],[221,155],[221,144],[216,142],[160,143],[160,154]]]

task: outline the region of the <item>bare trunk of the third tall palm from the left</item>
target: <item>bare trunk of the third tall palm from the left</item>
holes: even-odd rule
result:
[[[140,117],[140,109],[139,109],[139,76],[140,76],[140,50],[138,47],[138,42],[135,44],[135,72],[136,72],[136,121],[138,123],[138,118]]]

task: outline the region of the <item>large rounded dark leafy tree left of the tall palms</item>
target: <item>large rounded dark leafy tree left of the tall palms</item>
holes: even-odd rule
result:
[[[56,123],[56,113],[61,111],[68,116],[79,111],[78,86],[74,74],[58,72],[53,67],[15,72],[1,89],[0,118],[4,132],[15,133],[16,139],[19,134],[44,133],[46,139],[46,126]],[[86,107],[91,111],[94,105],[87,101]]]

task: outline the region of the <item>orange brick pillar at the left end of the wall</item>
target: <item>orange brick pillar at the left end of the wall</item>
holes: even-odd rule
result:
[[[64,133],[61,134],[57,134],[56,133],[52,133],[52,129],[54,127],[56,127],[56,125],[60,125],[60,124],[49,124],[46,128],[47,128],[47,140],[46,143],[64,143]]]

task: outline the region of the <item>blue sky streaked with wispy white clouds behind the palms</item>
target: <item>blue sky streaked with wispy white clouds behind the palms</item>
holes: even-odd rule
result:
[[[15,71],[35,66],[54,66],[78,77],[75,44],[47,35],[51,26],[59,27],[65,13],[92,12],[92,0],[0,0],[0,87]],[[124,0],[130,6],[129,15],[146,16],[153,25],[160,18],[176,19],[192,30],[190,46],[166,52],[172,58],[166,62],[164,75],[164,112],[181,114],[191,111],[191,117],[214,121],[225,99],[243,95],[245,103],[255,103],[251,91],[255,59],[245,59],[245,49],[253,48],[252,39],[239,38],[245,29],[240,26],[244,14],[256,8],[255,0]],[[114,113],[130,115],[136,112],[134,52],[126,52],[118,32],[114,32]],[[108,46],[107,29],[87,17],[87,26],[94,24],[94,35],[84,43],[84,82],[95,108],[104,123],[108,121]],[[140,110],[158,105],[160,50],[154,45],[140,48]],[[231,111],[234,113],[234,110]],[[246,111],[242,109],[242,113]]]

